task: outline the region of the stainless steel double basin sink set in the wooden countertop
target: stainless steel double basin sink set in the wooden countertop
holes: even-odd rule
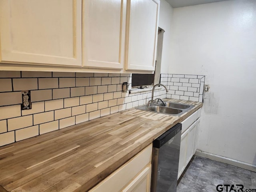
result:
[[[175,103],[175,102],[158,102],[158,103],[153,103],[150,106],[142,105],[136,108],[140,110],[152,111],[156,113],[180,116],[193,107],[194,105],[181,104],[181,103]]]

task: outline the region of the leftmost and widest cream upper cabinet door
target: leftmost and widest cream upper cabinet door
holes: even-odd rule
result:
[[[82,0],[0,0],[0,61],[82,65]]]

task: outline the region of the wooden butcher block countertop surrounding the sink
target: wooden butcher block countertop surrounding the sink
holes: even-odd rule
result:
[[[168,100],[168,99],[166,99]],[[86,192],[180,117],[129,109],[0,148],[0,192]]]

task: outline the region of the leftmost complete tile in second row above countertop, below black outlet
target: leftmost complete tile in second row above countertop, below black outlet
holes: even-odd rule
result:
[[[33,115],[16,117],[7,120],[8,131],[21,129],[33,125]]]

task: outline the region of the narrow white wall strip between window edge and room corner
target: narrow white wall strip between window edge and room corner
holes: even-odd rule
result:
[[[164,40],[161,60],[161,73],[168,73],[170,62],[170,39],[171,39],[171,19],[172,7],[165,0],[160,0],[159,27],[164,29]]]

